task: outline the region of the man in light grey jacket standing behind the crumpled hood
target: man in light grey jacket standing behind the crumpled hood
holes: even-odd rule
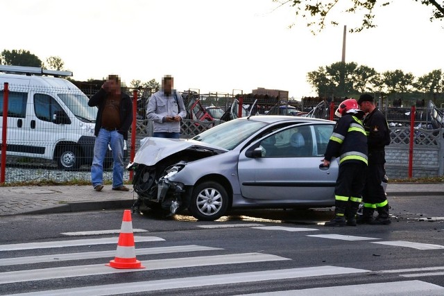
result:
[[[148,101],[146,118],[153,121],[153,137],[179,139],[180,121],[187,116],[187,110],[173,82],[172,76],[164,76],[162,89]]]

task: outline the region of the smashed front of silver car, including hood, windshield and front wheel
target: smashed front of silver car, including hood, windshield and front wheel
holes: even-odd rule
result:
[[[188,140],[145,138],[128,166],[139,195],[133,210],[189,209],[200,220],[215,220],[228,209],[233,191],[240,191],[239,144],[267,124],[230,121]]]

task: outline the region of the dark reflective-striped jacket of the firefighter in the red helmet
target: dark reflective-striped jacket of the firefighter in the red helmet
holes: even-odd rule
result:
[[[362,121],[354,114],[345,114],[336,123],[325,150],[325,159],[340,157],[339,165],[367,161],[367,137]]]

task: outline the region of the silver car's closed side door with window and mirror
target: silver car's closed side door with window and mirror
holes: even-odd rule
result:
[[[250,144],[239,155],[239,184],[244,198],[331,202],[338,164],[333,161],[330,168],[320,164],[333,128],[334,123],[293,125]],[[261,155],[247,157],[246,152],[255,148],[260,148]]]

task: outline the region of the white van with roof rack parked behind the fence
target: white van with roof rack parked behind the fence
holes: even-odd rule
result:
[[[88,97],[69,80],[58,78],[72,76],[72,72],[3,65],[0,72],[2,130],[4,85],[8,82],[6,154],[53,159],[65,169],[92,164],[97,108],[89,107]],[[108,153],[105,165],[110,162]]]

